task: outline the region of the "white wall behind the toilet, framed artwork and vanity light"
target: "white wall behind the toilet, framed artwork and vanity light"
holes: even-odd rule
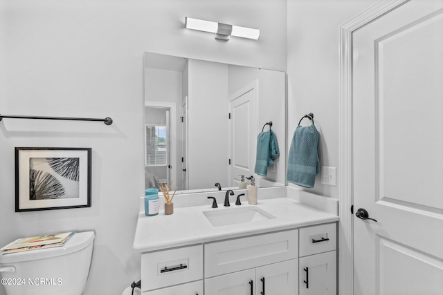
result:
[[[84,294],[121,294],[140,278],[132,241],[144,189],[144,52],[285,70],[286,0],[0,3],[0,112],[114,119],[111,126],[0,122],[0,244],[92,229],[97,236]],[[216,41],[184,30],[186,16],[260,28],[262,37]],[[15,213],[15,146],[91,147],[92,207]]]

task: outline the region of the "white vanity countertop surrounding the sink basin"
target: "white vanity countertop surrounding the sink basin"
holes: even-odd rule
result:
[[[248,206],[260,207],[275,218],[215,227],[203,213]],[[259,200],[256,205],[244,202],[241,206],[236,206],[231,202],[230,207],[224,207],[223,203],[219,203],[218,208],[211,208],[208,204],[179,207],[174,208],[174,214],[168,216],[164,211],[160,211],[157,216],[139,213],[133,247],[136,251],[155,251],[336,221],[338,216],[291,198]]]

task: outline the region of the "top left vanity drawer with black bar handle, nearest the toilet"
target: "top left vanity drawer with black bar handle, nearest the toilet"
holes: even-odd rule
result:
[[[141,289],[188,283],[203,278],[203,245],[141,255]]]

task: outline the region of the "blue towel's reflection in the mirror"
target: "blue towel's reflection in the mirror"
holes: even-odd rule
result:
[[[254,172],[258,175],[266,176],[268,166],[274,164],[274,161],[280,156],[278,142],[275,133],[272,130],[260,132],[257,136],[257,158],[255,161]]]

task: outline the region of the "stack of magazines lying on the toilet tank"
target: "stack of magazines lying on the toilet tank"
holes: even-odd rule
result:
[[[29,238],[19,238],[14,242],[0,249],[0,254],[11,254],[21,251],[30,251],[35,249],[46,249],[61,247],[75,234],[75,231],[69,231],[62,234],[50,234],[45,236],[33,236]]]

